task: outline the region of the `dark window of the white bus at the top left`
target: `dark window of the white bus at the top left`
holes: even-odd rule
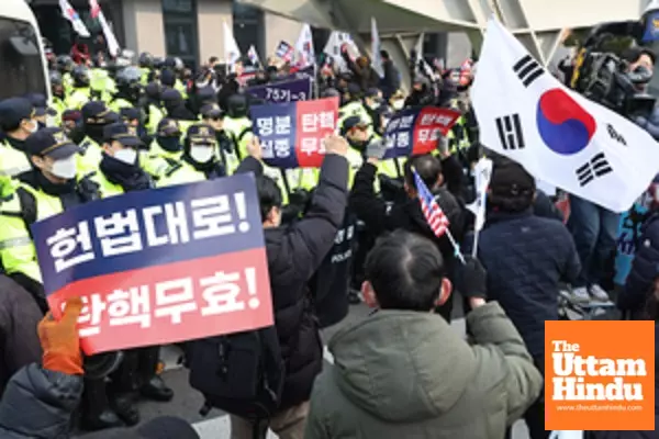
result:
[[[41,44],[30,23],[0,19],[0,100],[25,93],[47,94]]]

